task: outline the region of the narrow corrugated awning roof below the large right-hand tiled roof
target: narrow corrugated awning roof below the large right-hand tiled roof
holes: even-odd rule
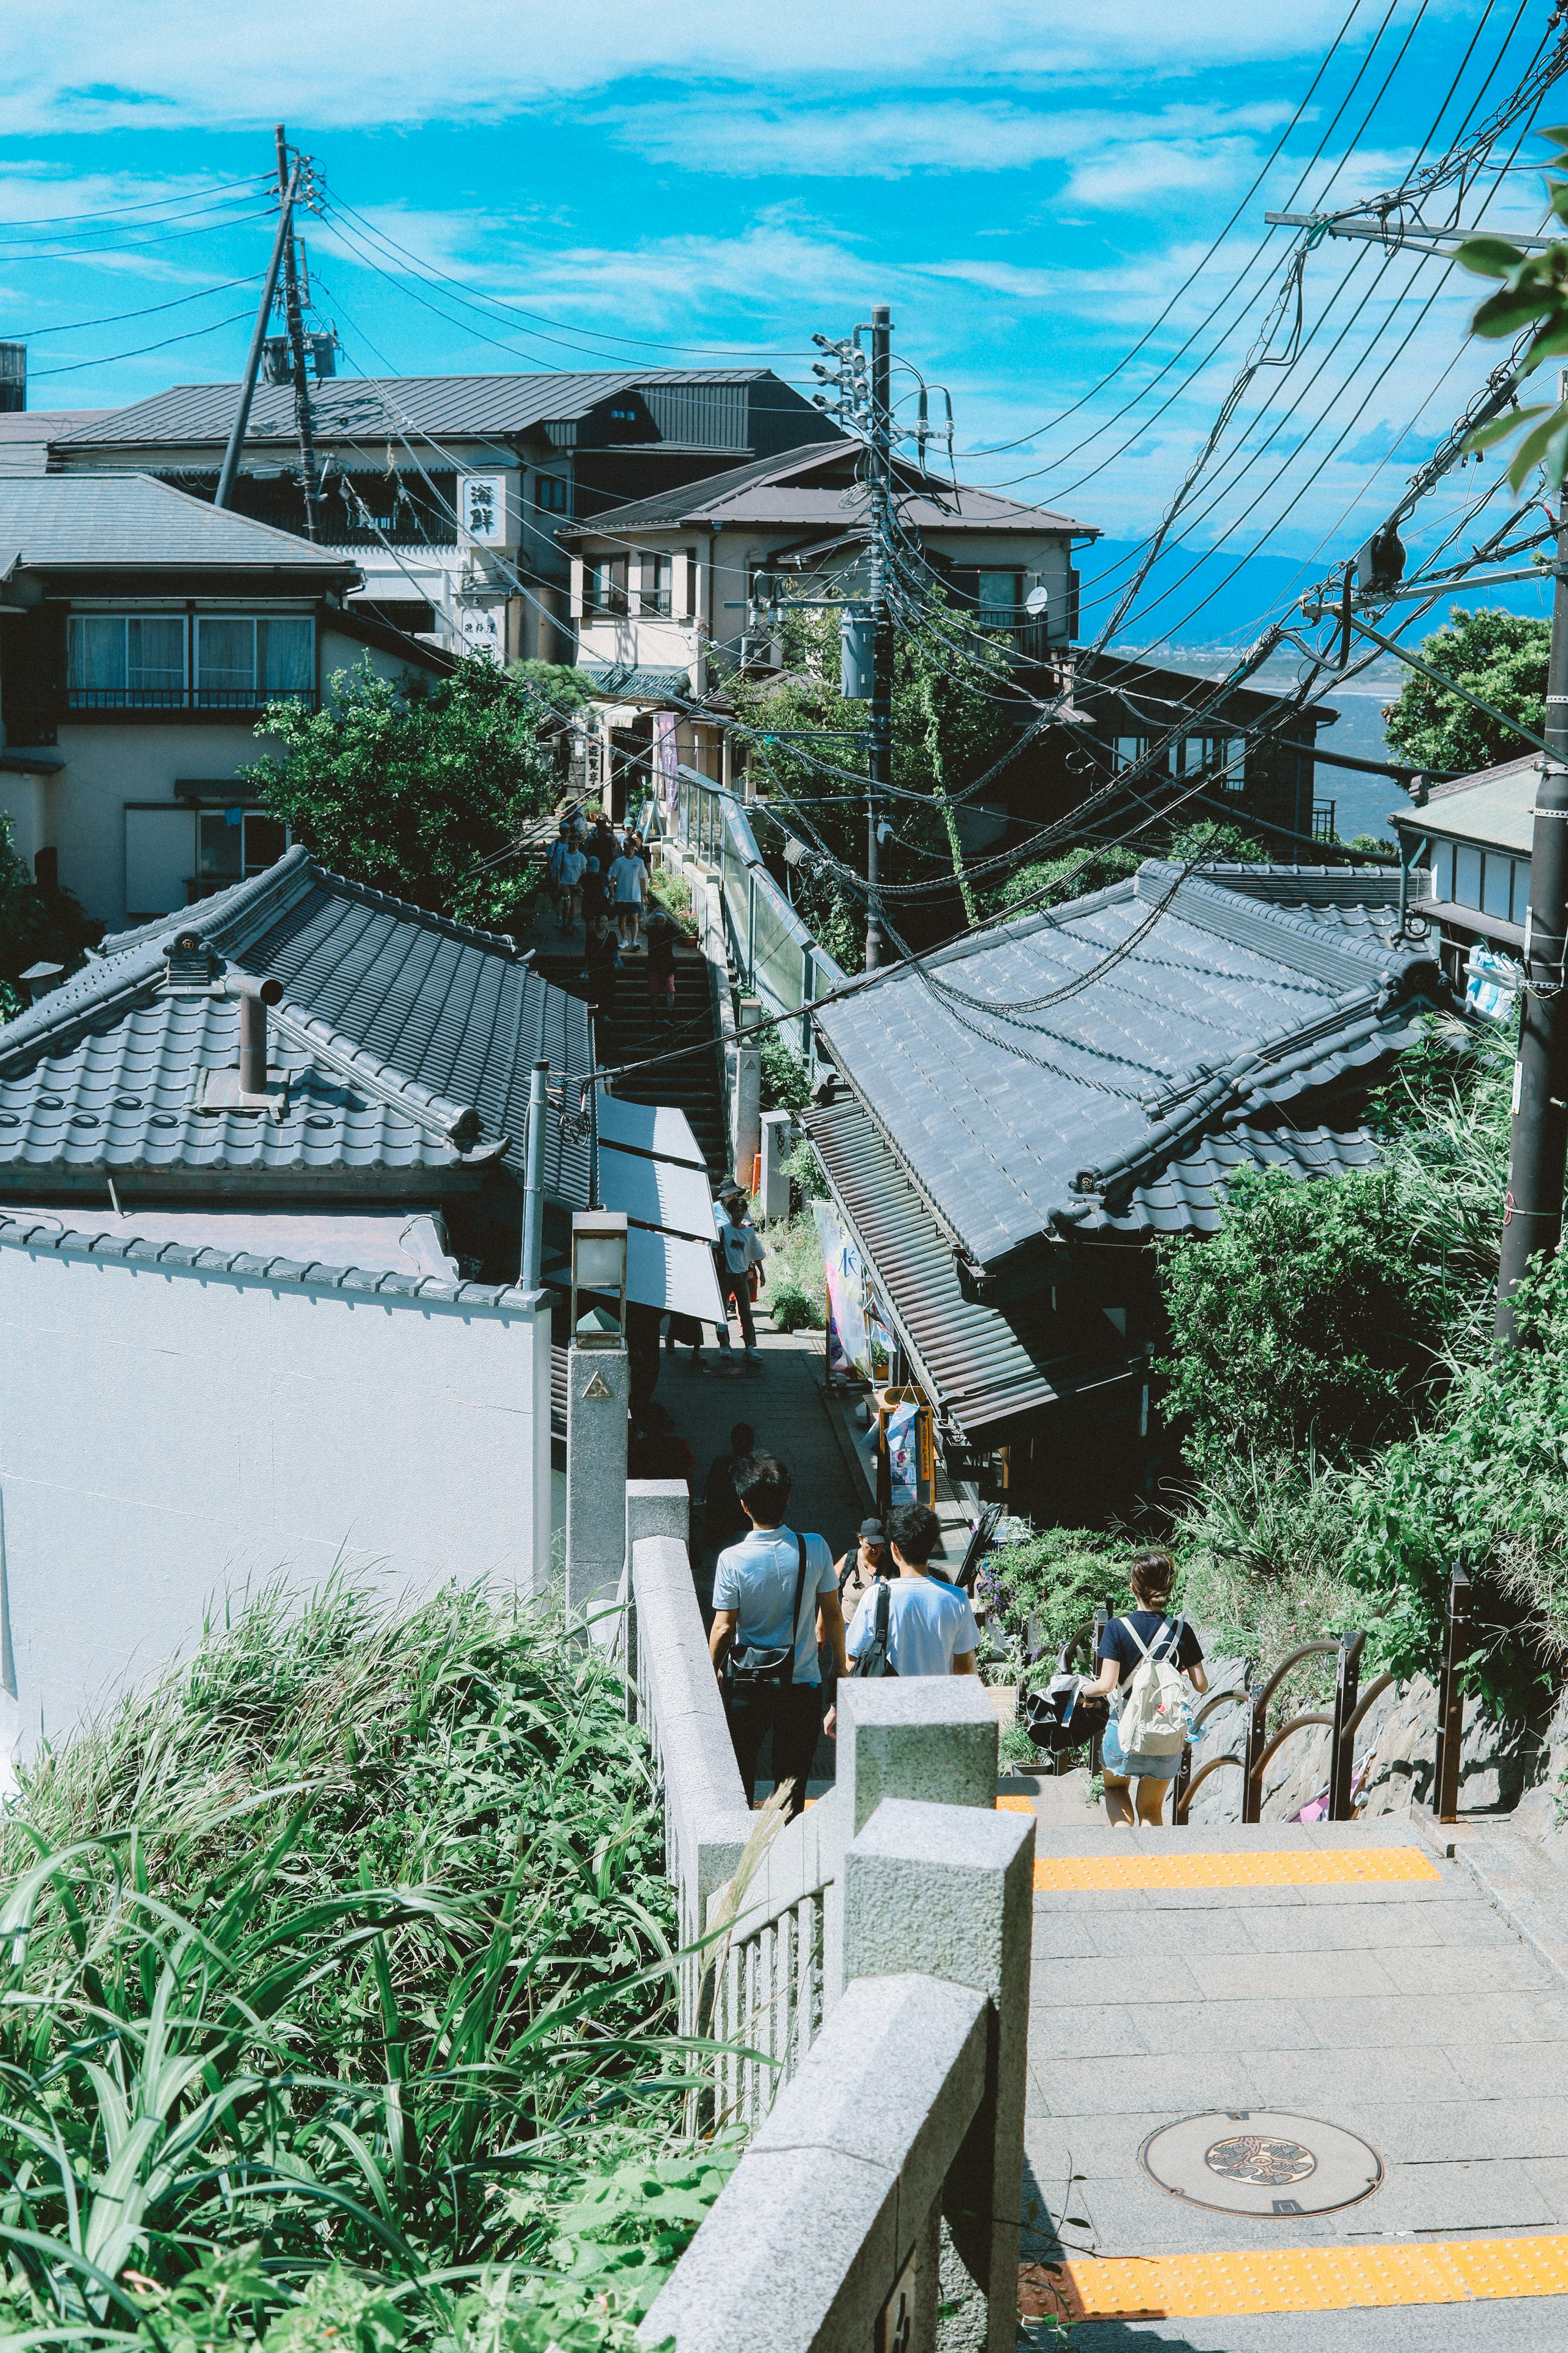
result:
[[[1133,1365],[1143,1377],[1143,1358],[1114,1353],[1110,1325],[1103,1358],[1091,1358],[1063,1346],[1063,1320],[1048,1299],[1009,1308],[964,1299],[952,1242],[858,1104],[827,1104],[809,1111],[802,1125],[851,1240],[875,1268],[922,1388],[961,1438],[1081,1388],[1128,1379]]]

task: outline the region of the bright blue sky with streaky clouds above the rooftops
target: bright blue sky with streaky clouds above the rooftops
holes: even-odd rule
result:
[[[1267,315],[1288,238],[1265,242],[1262,212],[1396,186],[1434,122],[1427,160],[1507,96],[1544,19],[1544,0],[9,0],[0,334],[31,344],[33,407],[237,374],[282,118],[324,179],[308,242],[346,369],[755,353],[799,381],[813,329],[886,299],[898,348],[952,391],[961,471],[1124,548]],[[1542,120],[1566,113],[1568,92]],[[1526,139],[1465,219],[1486,198],[1488,224],[1535,226],[1540,158]],[[1185,551],[1291,558],[1248,574],[1276,595],[1354,546],[1493,365],[1465,336],[1476,292],[1321,245],[1302,355],[1241,402]],[[1145,635],[1178,609],[1180,591]]]

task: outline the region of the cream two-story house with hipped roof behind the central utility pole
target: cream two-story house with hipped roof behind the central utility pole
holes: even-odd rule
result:
[[[905,464],[896,466],[896,508],[922,586],[940,581],[959,621],[1025,661],[1070,652],[1072,546],[1098,532],[997,492],[950,489]],[[607,755],[639,758],[654,713],[705,696],[712,671],[778,668],[790,600],[865,598],[870,527],[860,449],[839,442],[757,459],[562,529],[578,666],[602,689]],[[682,720],[672,741],[682,762],[722,776],[722,729]],[[621,798],[618,779],[611,791]]]

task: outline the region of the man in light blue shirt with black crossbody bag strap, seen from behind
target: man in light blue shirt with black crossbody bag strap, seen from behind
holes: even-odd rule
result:
[[[773,1454],[745,1454],[731,1471],[736,1501],[750,1520],[750,1537],[719,1553],[712,1574],[712,1635],[708,1652],[724,1692],[724,1715],[741,1767],[745,1802],[755,1802],[757,1751],[773,1734],[773,1788],[785,1781],[790,1819],[806,1805],[806,1779],[823,1725],[820,1673],[816,1664],[816,1621],[823,1640],[849,1673],[844,1657],[844,1612],[832,1551],[823,1537],[797,1537],[785,1527],[790,1508],[790,1473]],[[804,1577],[802,1577],[804,1546]],[[797,1605],[799,1593],[799,1605]],[[776,1682],[731,1682],[724,1659],[750,1652],[778,1652]]]

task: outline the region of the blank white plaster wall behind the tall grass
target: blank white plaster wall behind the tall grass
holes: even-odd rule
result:
[[[5,1247],[0,1365],[24,1751],[247,1579],[313,1586],[339,1555],[397,1586],[548,1577],[550,1334],[527,1306]]]

